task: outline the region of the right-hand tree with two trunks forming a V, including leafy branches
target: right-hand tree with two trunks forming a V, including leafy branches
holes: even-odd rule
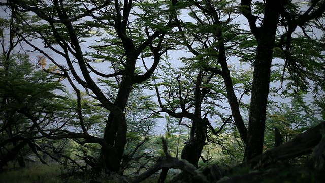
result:
[[[319,22],[324,14],[324,3],[311,1],[305,12],[296,8],[305,5],[291,1],[252,3],[248,0],[239,4],[233,1],[187,1],[184,6],[189,9],[192,19],[189,22],[176,18],[181,38],[178,43],[195,56],[197,67],[224,80],[232,117],[246,143],[245,160],[249,160],[263,151],[270,82],[280,81],[282,85],[287,82],[286,87],[295,86],[288,90],[295,92],[297,89],[307,90],[311,86],[306,84],[308,79],[319,83],[323,78],[321,40],[312,39],[306,27],[311,31],[317,29],[315,22]],[[239,15],[248,21],[249,31],[236,25],[235,19]],[[295,35],[298,28],[303,36]],[[251,94],[248,130],[240,113],[240,96],[234,92],[236,78],[230,74],[228,57],[233,56],[253,67],[251,80],[245,81],[251,85],[242,90],[242,93]],[[283,74],[278,80],[271,78],[274,58],[284,60],[281,65]],[[314,87],[313,91],[317,89]]]

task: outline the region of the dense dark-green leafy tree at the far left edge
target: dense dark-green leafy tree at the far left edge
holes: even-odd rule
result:
[[[16,160],[24,167],[30,153],[46,163],[38,154],[38,141],[43,136],[25,113],[47,118],[48,125],[54,113],[62,109],[62,98],[55,94],[63,89],[59,78],[38,69],[44,66],[45,59],[33,64],[27,54],[17,52],[23,38],[16,34],[20,27],[16,23],[14,15],[0,19],[0,169]]]

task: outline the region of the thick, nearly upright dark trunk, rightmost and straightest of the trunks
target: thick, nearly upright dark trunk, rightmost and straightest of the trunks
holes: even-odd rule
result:
[[[280,4],[278,1],[266,1],[263,24],[257,29],[258,31],[255,34],[257,49],[254,62],[245,160],[250,160],[262,154],[263,151],[273,45],[279,20],[278,4]]]

